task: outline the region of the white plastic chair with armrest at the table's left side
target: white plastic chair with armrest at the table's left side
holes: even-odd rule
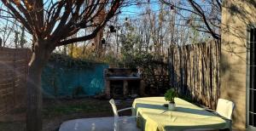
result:
[[[120,111],[131,110],[132,108],[125,108],[121,110],[117,110],[114,100],[109,100],[110,105],[113,108],[113,130],[114,131],[139,131],[137,128],[136,116],[132,117],[119,117]]]

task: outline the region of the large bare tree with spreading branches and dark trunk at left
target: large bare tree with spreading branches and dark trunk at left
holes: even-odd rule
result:
[[[42,130],[41,73],[56,47],[96,37],[113,15],[119,13],[120,0],[1,0],[9,14],[32,35],[32,58],[27,80],[26,130]],[[101,22],[96,16],[106,9]],[[86,36],[73,36],[92,28]]]

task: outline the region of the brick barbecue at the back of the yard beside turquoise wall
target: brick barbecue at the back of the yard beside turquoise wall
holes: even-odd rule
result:
[[[108,68],[104,71],[107,98],[128,98],[142,95],[144,83],[137,69]]]

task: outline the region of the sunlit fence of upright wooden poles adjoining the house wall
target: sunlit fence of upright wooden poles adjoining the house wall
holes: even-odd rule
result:
[[[179,94],[215,108],[220,88],[220,42],[169,48],[170,84]]]

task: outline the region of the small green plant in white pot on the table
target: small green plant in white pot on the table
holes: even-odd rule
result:
[[[165,100],[169,101],[168,109],[171,110],[171,111],[174,111],[175,107],[176,107],[175,101],[174,101],[175,97],[176,97],[176,93],[175,93],[175,90],[173,88],[170,88],[166,91]]]

